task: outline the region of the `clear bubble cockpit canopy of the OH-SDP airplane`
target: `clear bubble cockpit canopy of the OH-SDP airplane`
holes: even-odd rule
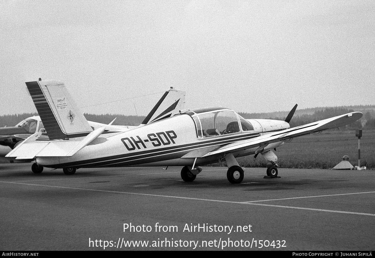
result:
[[[193,118],[200,138],[254,130],[252,124],[239,114],[222,107],[198,108],[184,114]]]

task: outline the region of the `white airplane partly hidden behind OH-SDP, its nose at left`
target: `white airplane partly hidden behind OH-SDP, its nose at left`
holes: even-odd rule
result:
[[[160,100],[156,103],[153,109],[148,113],[145,119],[139,126],[121,126],[109,124],[102,124],[93,121],[87,121],[93,130],[99,127],[105,127],[104,133],[109,132],[125,132],[130,129],[135,129],[145,124],[151,123],[158,119],[163,119],[171,115],[175,115],[183,108],[185,99],[185,92],[176,90],[172,87],[166,90]],[[39,115],[34,115],[22,120],[15,126],[0,128],[0,145],[9,146],[11,149],[15,148],[22,141],[27,139],[30,135],[39,130],[44,129],[44,125]],[[37,140],[48,140],[48,135],[43,133]],[[7,150],[8,153],[10,149]]]

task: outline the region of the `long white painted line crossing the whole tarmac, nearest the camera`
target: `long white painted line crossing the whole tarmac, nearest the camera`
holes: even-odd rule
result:
[[[175,198],[175,199],[188,199],[188,200],[196,200],[196,201],[223,202],[223,203],[234,203],[234,204],[242,204],[242,205],[258,205],[258,206],[268,206],[268,207],[278,207],[278,208],[290,208],[290,209],[298,209],[298,210],[325,211],[325,212],[333,212],[333,213],[345,213],[345,214],[375,216],[375,214],[371,214],[371,213],[352,212],[352,211],[340,211],[340,210],[324,210],[324,209],[293,207],[293,206],[284,206],[284,205],[272,205],[272,204],[263,204],[263,203],[254,203],[254,202],[223,201],[223,200],[214,200],[214,199],[201,199],[201,198],[191,198],[191,197],[181,197],[181,196],[157,195],[157,194],[150,194],[150,193],[120,192],[120,191],[110,191],[110,190],[87,189],[87,188],[67,187],[67,186],[51,186],[51,185],[43,185],[43,184],[28,184],[28,183],[7,182],[7,181],[0,181],[0,183],[23,184],[23,185],[28,185],[28,186],[43,186],[43,187],[54,187],[54,188],[74,189],[74,190],[86,190],[86,191],[107,192],[107,193],[124,193],[124,194],[132,194],[132,195],[165,197],[165,198]]]

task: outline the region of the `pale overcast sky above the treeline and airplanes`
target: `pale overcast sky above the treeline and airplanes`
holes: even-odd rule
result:
[[[2,0],[0,35],[0,114],[36,111],[39,77],[95,114],[145,115],[170,86],[186,108],[375,103],[374,0]]]

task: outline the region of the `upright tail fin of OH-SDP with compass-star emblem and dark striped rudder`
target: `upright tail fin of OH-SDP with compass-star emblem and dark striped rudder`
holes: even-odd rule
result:
[[[39,79],[26,86],[49,139],[82,137],[92,132],[64,83]]]

